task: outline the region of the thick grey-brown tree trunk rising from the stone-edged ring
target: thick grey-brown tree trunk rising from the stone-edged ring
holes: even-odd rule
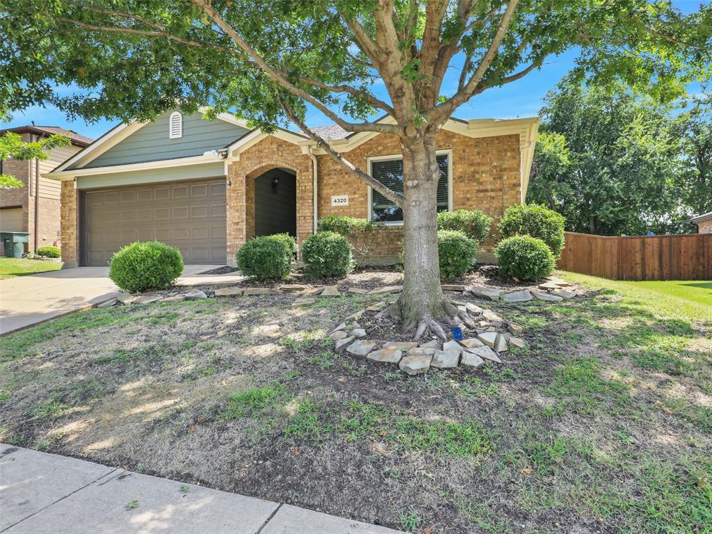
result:
[[[440,177],[434,132],[402,142],[404,281],[397,307],[403,329],[418,326],[444,337],[435,321],[453,314],[440,288],[437,234],[437,187]],[[449,309],[449,312],[448,312]]]

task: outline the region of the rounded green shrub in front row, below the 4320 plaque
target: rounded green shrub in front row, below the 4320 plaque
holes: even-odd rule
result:
[[[302,245],[304,271],[310,276],[347,276],[354,270],[351,245],[341,234],[320,231]]]

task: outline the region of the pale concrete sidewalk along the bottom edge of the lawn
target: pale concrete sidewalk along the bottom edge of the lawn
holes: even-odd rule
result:
[[[304,508],[5,444],[0,444],[0,532],[399,534]]]

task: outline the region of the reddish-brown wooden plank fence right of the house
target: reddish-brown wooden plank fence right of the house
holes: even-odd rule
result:
[[[613,280],[712,280],[712,234],[608,237],[566,232],[557,266]]]

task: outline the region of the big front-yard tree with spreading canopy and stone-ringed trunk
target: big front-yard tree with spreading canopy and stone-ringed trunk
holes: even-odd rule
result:
[[[147,120],[180,105],[293,121],[404,214],[404,287],[389,313],[416,336],[459,312],[441,292],[435,136],[459,105],[580,49],[577,75],[674,98],[708,73],[712,8],[648,0],[0,0],[0,103]],[[453,88],[444,89],[450,69]],[[372,90],[382,80],[387,97]],[[66,96],[54,84],[76,83]],[[305,125],[313,106],[350,132],[399,139],[394,192]],[[375,113],[390,121],[368,120]]]

